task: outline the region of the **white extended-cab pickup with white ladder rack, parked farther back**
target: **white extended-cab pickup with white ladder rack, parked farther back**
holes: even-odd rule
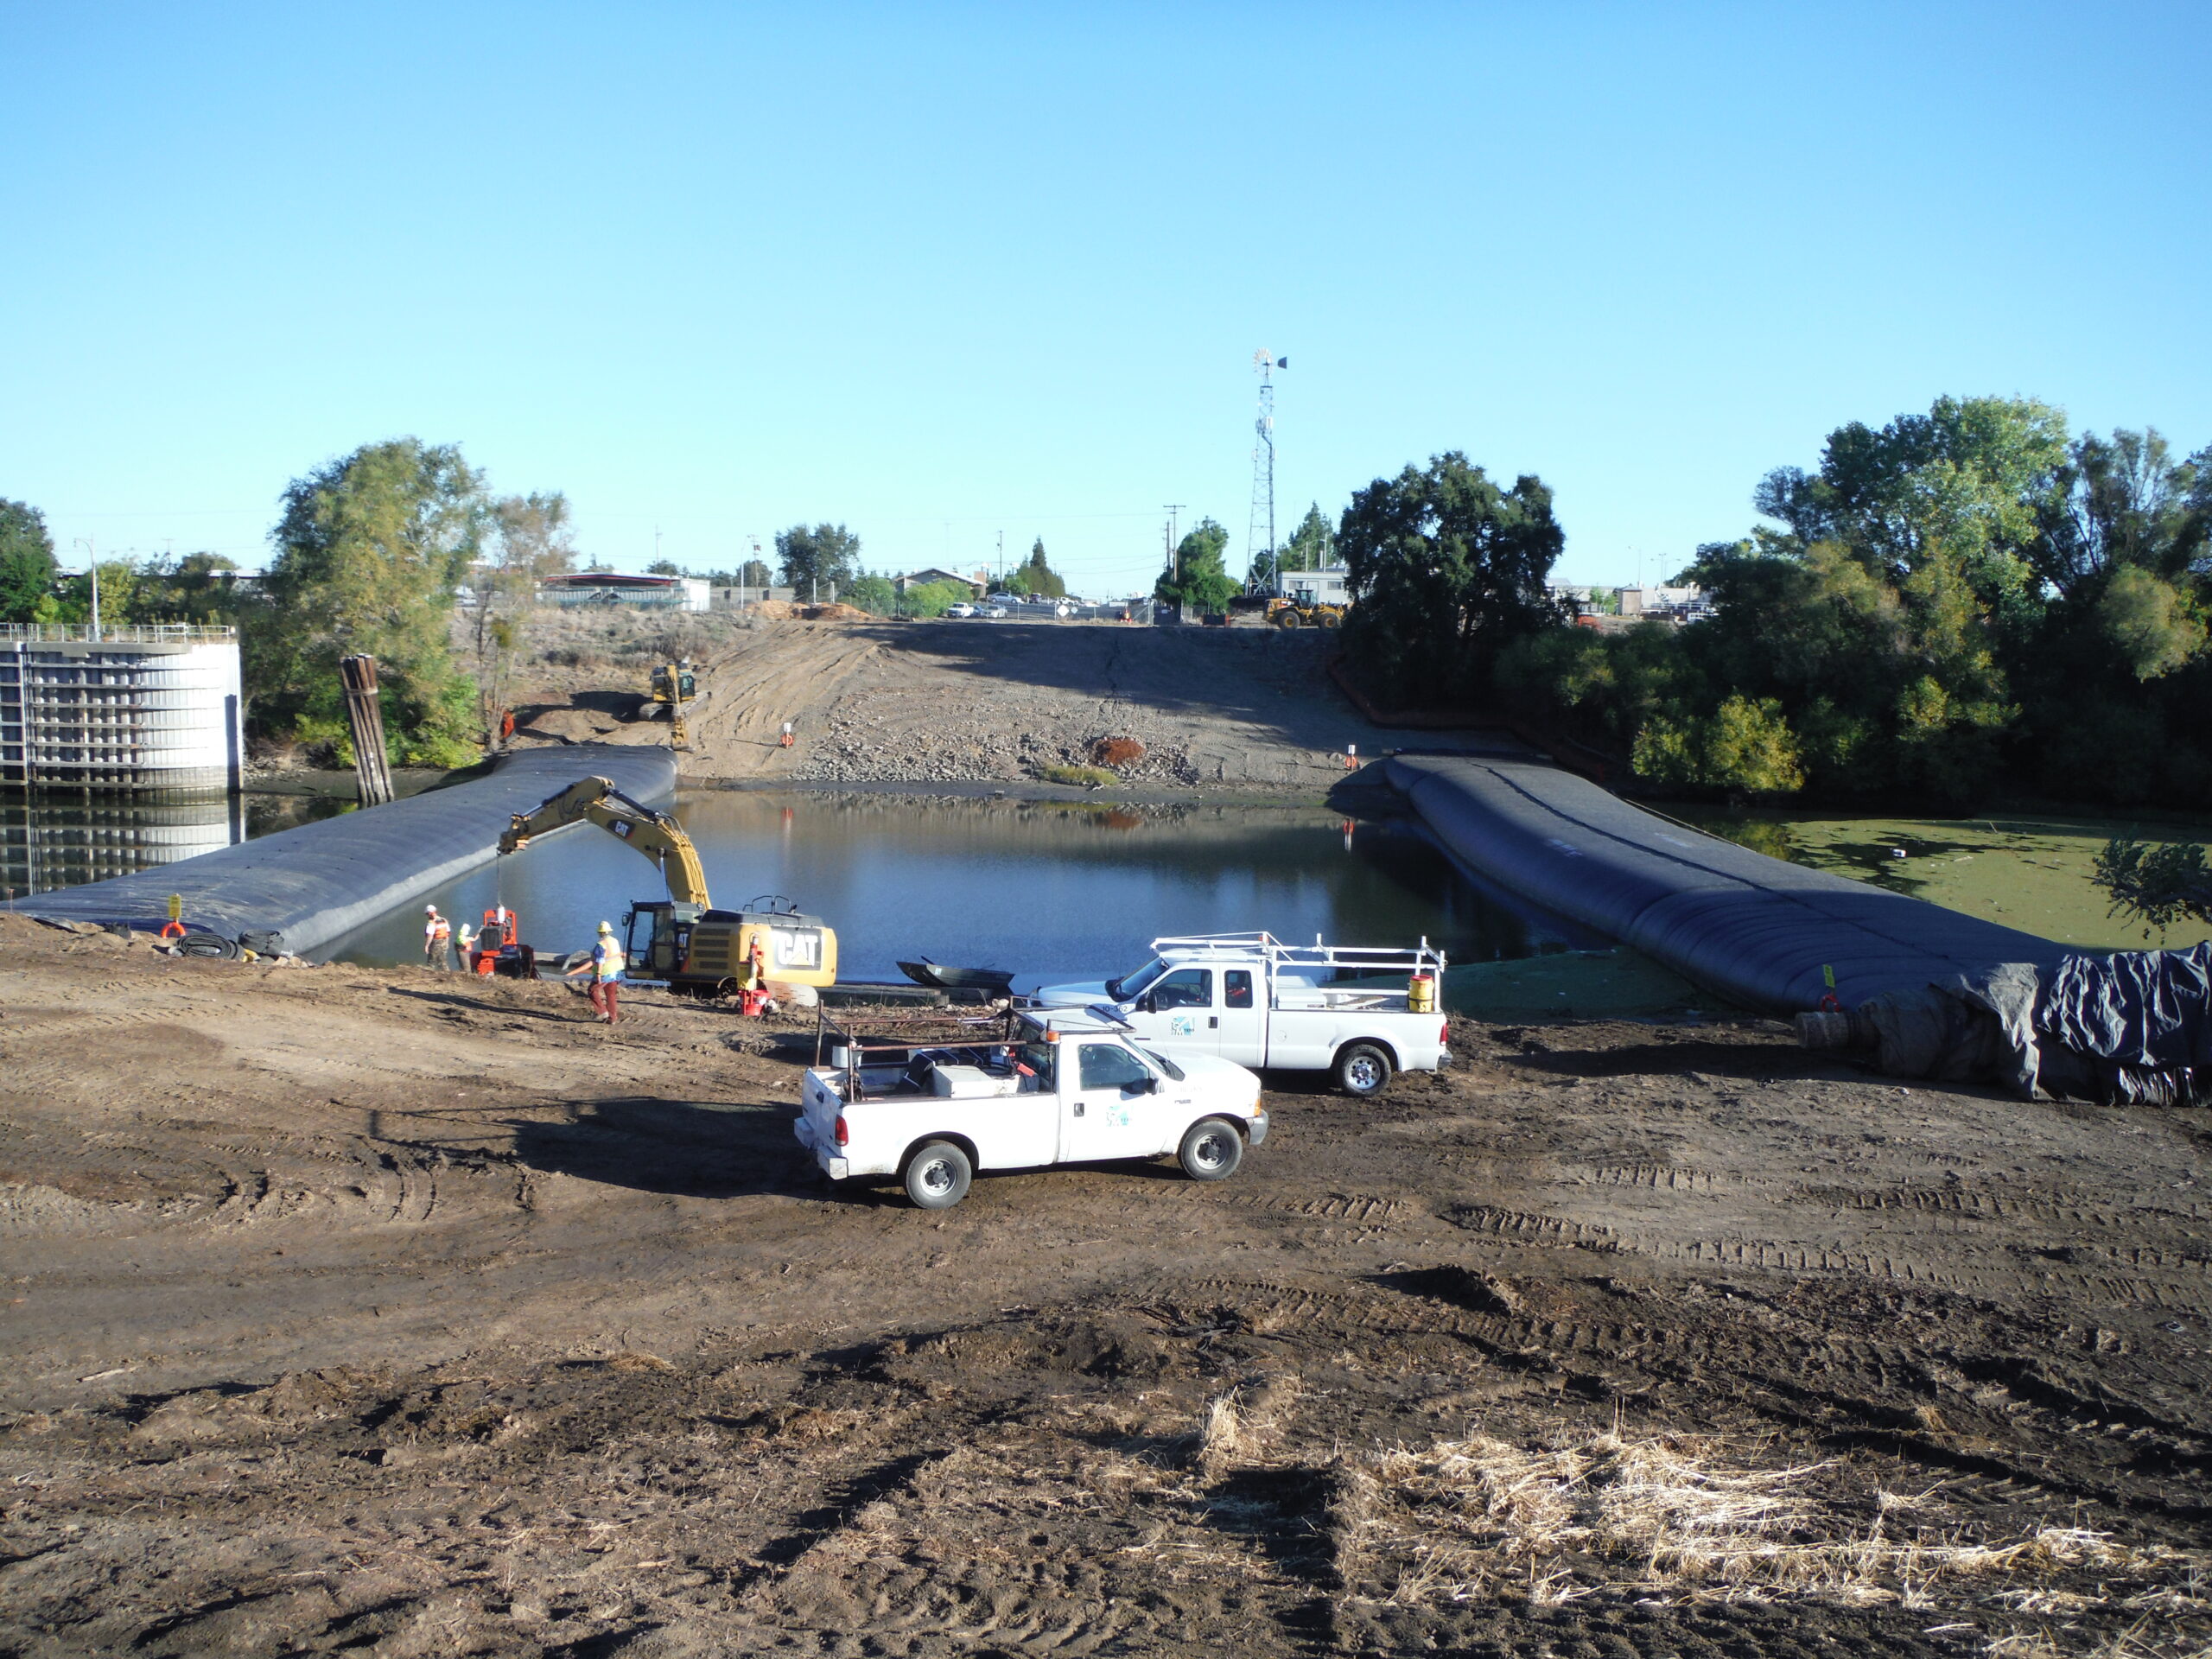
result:
[[[1347,1095],[1374,1095],[1391,1073],[1451,1064],[1442,982],[1444,953],[1429,940],[1398,951],[1194,933],[1152,940],[1152,960],[1119,980],[1046,984],[1033,1002],[1110,1009],[1139,1042],[1179,1060],[1201,1051],[1254,1068],[1327,1071]]]

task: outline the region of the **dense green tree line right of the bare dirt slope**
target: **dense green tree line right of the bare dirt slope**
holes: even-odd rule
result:
[[[1688,626],[1573,626],[1540,478],[1462,453],[1352,498],[1343,644],[1391,703],[1531,717],[1650,785],[1909,801],[2212,803],[2212,449],[1940,398],[1829,434],[1697,549]]]

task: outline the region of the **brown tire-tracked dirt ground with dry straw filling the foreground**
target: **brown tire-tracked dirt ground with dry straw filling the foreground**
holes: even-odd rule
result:
[[[925,1214],[717,1006],[0,918],[0,1009],[7,1655],[2212,1641],[2208,1113],[1462,1024]]]

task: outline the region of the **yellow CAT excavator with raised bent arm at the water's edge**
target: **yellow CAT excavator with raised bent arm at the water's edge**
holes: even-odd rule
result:
[[[513,814],[500,852],[522,852],[531,836],[571,823],[595,823],[637,847],[668,883],[668,898],[630,905],[622,918],[624,953],[639,978],[695,995],[759,991],[768,980],[836,984],[836,933],[821,916],[803,916],[781,894],[763,894],[745,909],[714,909],[684,825],[611,779],[577,779],[535,812]]]

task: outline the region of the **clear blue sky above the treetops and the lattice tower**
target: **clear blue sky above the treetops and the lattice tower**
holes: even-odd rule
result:
[[[1161,504],[1245,560],[1464,449],[1659,577],[1845,420],[2031,394],[2212,442],[2212,7],[0,9],[0,495],[265,555],[460,442],[617,568],[876,568]],[[82,557],[77,553],[75,557]]]

